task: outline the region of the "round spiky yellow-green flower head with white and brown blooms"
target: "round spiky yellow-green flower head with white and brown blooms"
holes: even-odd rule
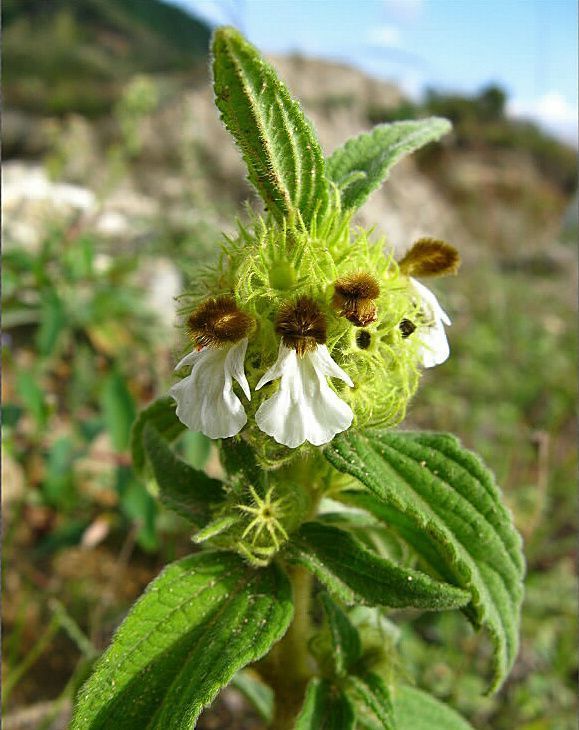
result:
[[[285,256],[264,224],[230,241],[221,292],[189,312],[195,349],[176,370],[190,372],[170,390],[188,428],[228,438],[250,412],[278,444],[321,446],[355,418],[399,420],[417,367],[446,360],[450,320],[416,277],[454,273],[456,251],[420,239],[396,263],[365,237],[345,256],[343,229],[322,233],[323,246],[292,235]]]

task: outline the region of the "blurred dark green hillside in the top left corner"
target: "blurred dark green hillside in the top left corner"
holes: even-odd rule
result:
[[[208,27],[161,0],[5,0],[2,20],[9,108],[94,117],[136,73],[204,76]]]

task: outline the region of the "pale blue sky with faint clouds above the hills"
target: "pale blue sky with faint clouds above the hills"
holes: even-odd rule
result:
[[[498,83],[509,113],[577,144],[576,0],[169,1],[264,53],[347,62],[415,100]]]

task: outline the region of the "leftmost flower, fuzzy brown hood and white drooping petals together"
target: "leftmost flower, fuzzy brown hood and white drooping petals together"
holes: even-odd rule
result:
[[[233,381],[251,400],[243,362],[254,322],[231,297],[222,296],[197,307],[187,324],[197,350],[175,368],[192,366],[191,373],[169,390],[177,401],[177,418],[212,439],[235,436],[247,423],[247,416],[233,391]]]

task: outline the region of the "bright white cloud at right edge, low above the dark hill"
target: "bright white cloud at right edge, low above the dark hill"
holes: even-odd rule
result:
[[[512,117],[531,119],[577,145],[577,105],[558,91],[549,91],[530,101],[512,99],[507,112]]]

